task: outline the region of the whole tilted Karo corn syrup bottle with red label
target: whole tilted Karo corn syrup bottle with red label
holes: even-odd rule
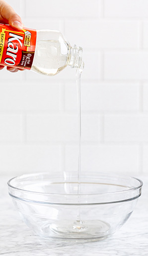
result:
[[[59,31],[16,31],[0,24],[0,65],[54,76],[67,66],[80,67],[81,62],[82,48],[72,47]]]

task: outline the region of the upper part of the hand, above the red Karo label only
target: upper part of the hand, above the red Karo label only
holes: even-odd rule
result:
[[[11,27],[18,30],[21,30],[23,28],[23,24],[19,15],[13,10],[13,8],[9,4],[7,4],[3,0],[0,4],[0,16],[5,23],[8,21]]]

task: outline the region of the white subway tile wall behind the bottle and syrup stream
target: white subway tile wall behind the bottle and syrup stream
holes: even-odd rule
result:
[[[83,47],[81,170],[148,173],[148,0],[6,1]],[[75,70],[0,74],[0,174],[77,171]]]

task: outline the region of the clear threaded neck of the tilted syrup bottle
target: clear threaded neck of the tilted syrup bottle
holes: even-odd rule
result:
[[[79,68],[82,63],[82,48],[74,45],[73,47],[70,47],[69,50],[68,65],[71,66],[71,68]]]

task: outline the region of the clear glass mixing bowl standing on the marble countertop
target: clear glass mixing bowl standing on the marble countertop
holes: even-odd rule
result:
[[[77,194],[80,185],[80,194]],[[140,179],[110,174],[35,173],[8,181],[24,222],[50,239],[101,240],[128,220],[141,195]]]

